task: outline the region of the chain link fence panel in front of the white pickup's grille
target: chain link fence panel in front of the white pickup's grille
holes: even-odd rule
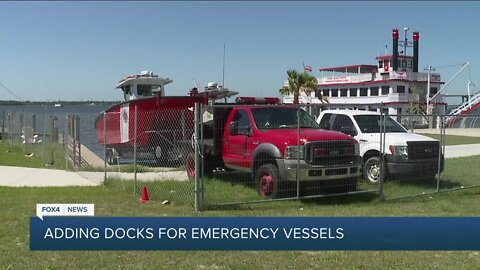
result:
[[[439,191],[445,171],[445,129],[441,117],[420,114],[382,114],[381,181],[385,199],[431,194]],[[396,127],[396,123],[403,125]],[[438,129],[417,129],[437,125]],[[422,130],[429,133],[422,134]],[[366,160],[366,158],[364,158]],[[368,163],[368,160],[365,161]]]

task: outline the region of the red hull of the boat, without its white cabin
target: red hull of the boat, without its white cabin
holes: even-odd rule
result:
[[[100,144],[121,154],[172,148],[191,140],[194,105],[201,97],[151,97],[114,105],[100,114],[95,129]]]

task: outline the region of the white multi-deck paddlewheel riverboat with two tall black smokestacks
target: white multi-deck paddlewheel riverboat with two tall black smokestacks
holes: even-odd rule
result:
[[[405,39],[402,42],[399,41],[398,29],[393,29],[392,53],[388,54],[386,50],[385,55],[375,58],[374,65],[319,69],[318,86],[311,96],[303,97],[303,103],[319,103],[316,97],[323,96],[327,97],[330,108],[375,111],[383,103],[392,115],[422,111],[425,114],[444,114],[446,103],[439,93],[444,82],[440,74],[432,72],[432,69],[419,70],[420,34],[413,32],[413,42],[410,42],[407,39],[409,29],[404,30]],[[408,54],[411,48],[413,55]],[[284,99],[284,102],[288,100]],[[418,108],[417,111],[413,107]]]

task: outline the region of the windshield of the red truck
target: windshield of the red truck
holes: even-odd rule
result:
[[[297,108],[253,108],[252,115],[257,128],[260,130],[297,128],[298,123],[300,123],[301,128],[320,128],[313,117],[306,111]],[[300,122],[297,119],[300,119]]]

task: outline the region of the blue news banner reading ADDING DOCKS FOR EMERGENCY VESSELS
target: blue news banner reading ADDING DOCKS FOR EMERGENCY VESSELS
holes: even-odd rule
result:
[[[30,249],[480,250],[480,218],[52,214],[30,218]]]

